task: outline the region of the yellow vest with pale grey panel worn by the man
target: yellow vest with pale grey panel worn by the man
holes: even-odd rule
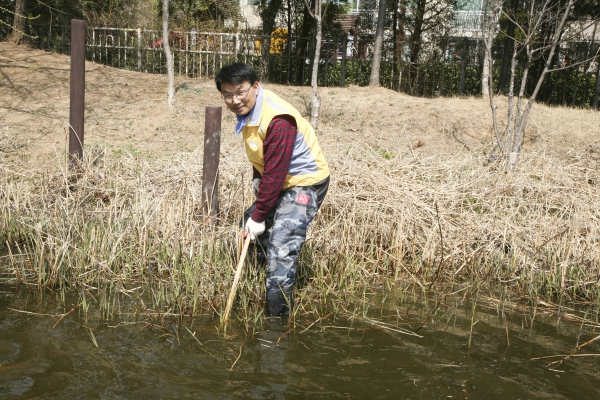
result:
[[[312,125],[291,104],[260,86],[256,105],[245,119],[239,118],[236,128],[236,135],[241,132],[244,136],[246,154],[254,168],[262,175],[265,169],[263,142],[271,120],[278,115],[291,115],[296,120],[298,129],[283,190],[314,185],[327,178],[329,166]]]

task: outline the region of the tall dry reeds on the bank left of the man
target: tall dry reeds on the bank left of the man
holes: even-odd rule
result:
[[[237,224],[229,222],[241,204],[223,197],[222,223],[210,225],[200,215],[201,163],[94,153],[77,180],[64,170],[2,170],[2,239],[12,274],[63,293],[137,287],[181,313],[204,301],[219,306],[213,302],[227,292],[236,257]],[[236,182],[224,186],[241,191]]]

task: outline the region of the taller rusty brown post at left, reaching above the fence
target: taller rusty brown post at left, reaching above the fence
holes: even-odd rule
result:
[[[83,159],[85,109],[85,21],[71,20],[71,105],[69,117],[69,165]]]

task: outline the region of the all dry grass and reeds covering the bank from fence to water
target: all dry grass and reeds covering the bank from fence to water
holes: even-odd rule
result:
[[[96,69],[91,82],[100,79]],[[77,181],[63,169],[62,128],[48,134],[58,142],[49,152],[28,139],[35,138],[29,135],[35,125],[23,116],[34,113],[26,111],[28,101],[19,118],[3,106],[4,279],[95,293],[107,315],[125,297],[141,295],[172,313],[220,313],[233,278],[238,220],[252,201],[250,168],[230,134],[233,118],[224,121],[221,214],[209,225],[200,215],[198,110],[215,102],[212,83],[186,81],[175,110],[140,117],[163,107],[163,77],[100,70],[113,82],[134,77],[130,84],[138,90],[108,101],[115,88],[106,83],[90,95],[94,128]],[[309,88],[274,89],[304,111]],[[104,98],[94,97],[101,91]],[[534,297],[600,297],[598,113],[536,106],[510,175],[494,153],[480,99],[416,99],[357,87],[321,94],[319,136],[332,184],[303,251],[299,312],[407,283],[423,289],[503,283]],[[48,98],[40,96],[32,104]],[[65,118],[62,112],[52,118]],[[186,139],[182,132],[192,128]],[[165,149],[166,141],[173,146]],[[238,303],[246,322],[260,315],[263,274],[246,271]]]

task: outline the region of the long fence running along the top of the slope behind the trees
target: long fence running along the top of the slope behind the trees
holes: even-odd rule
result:
[[[473,21],[473,26],[477,24]],[[69,26],[31,26],[36,39],[32,46],[70,53]],[[0,35],[2,35],[0,31]],[[0,37],[0,40],[2,37]],[[86,58],[115,68],[166,73],[162,31],[148,29],[88,28]],[[574,43],[558,49],[555,64],[576,63],[598,52],[598,42]],[[195,79],[212,79],[218,70],[233,61],[246,62],[257,70],[262,81],[296,86],[310,85],[312,60],[308,37],[261,36],[253,32],[217,33],[175,31],[169,35],[175,72]],[[386,41],[380,67],[380,84],[414,96],[477,96],[481,94],[483,45],[478,38],[451,38],[440,43],[423,42],[422,57],[410,62],[409,42]],[[493,81],[501,74],[502,48]],[[326,38],[322,43],[318,84],[320,86],[368,85],[373,41],[367,38]],[[532,71],[535,72],[535,71]],[[530,72],[532,78],[535,73]],[[516,87],[522,72],[517,70]],[[529,79],[527,92],[535,80]],[[598,64],[587,62],[575,68],[550,73],[538,100],[555,105],[598,108]]]

